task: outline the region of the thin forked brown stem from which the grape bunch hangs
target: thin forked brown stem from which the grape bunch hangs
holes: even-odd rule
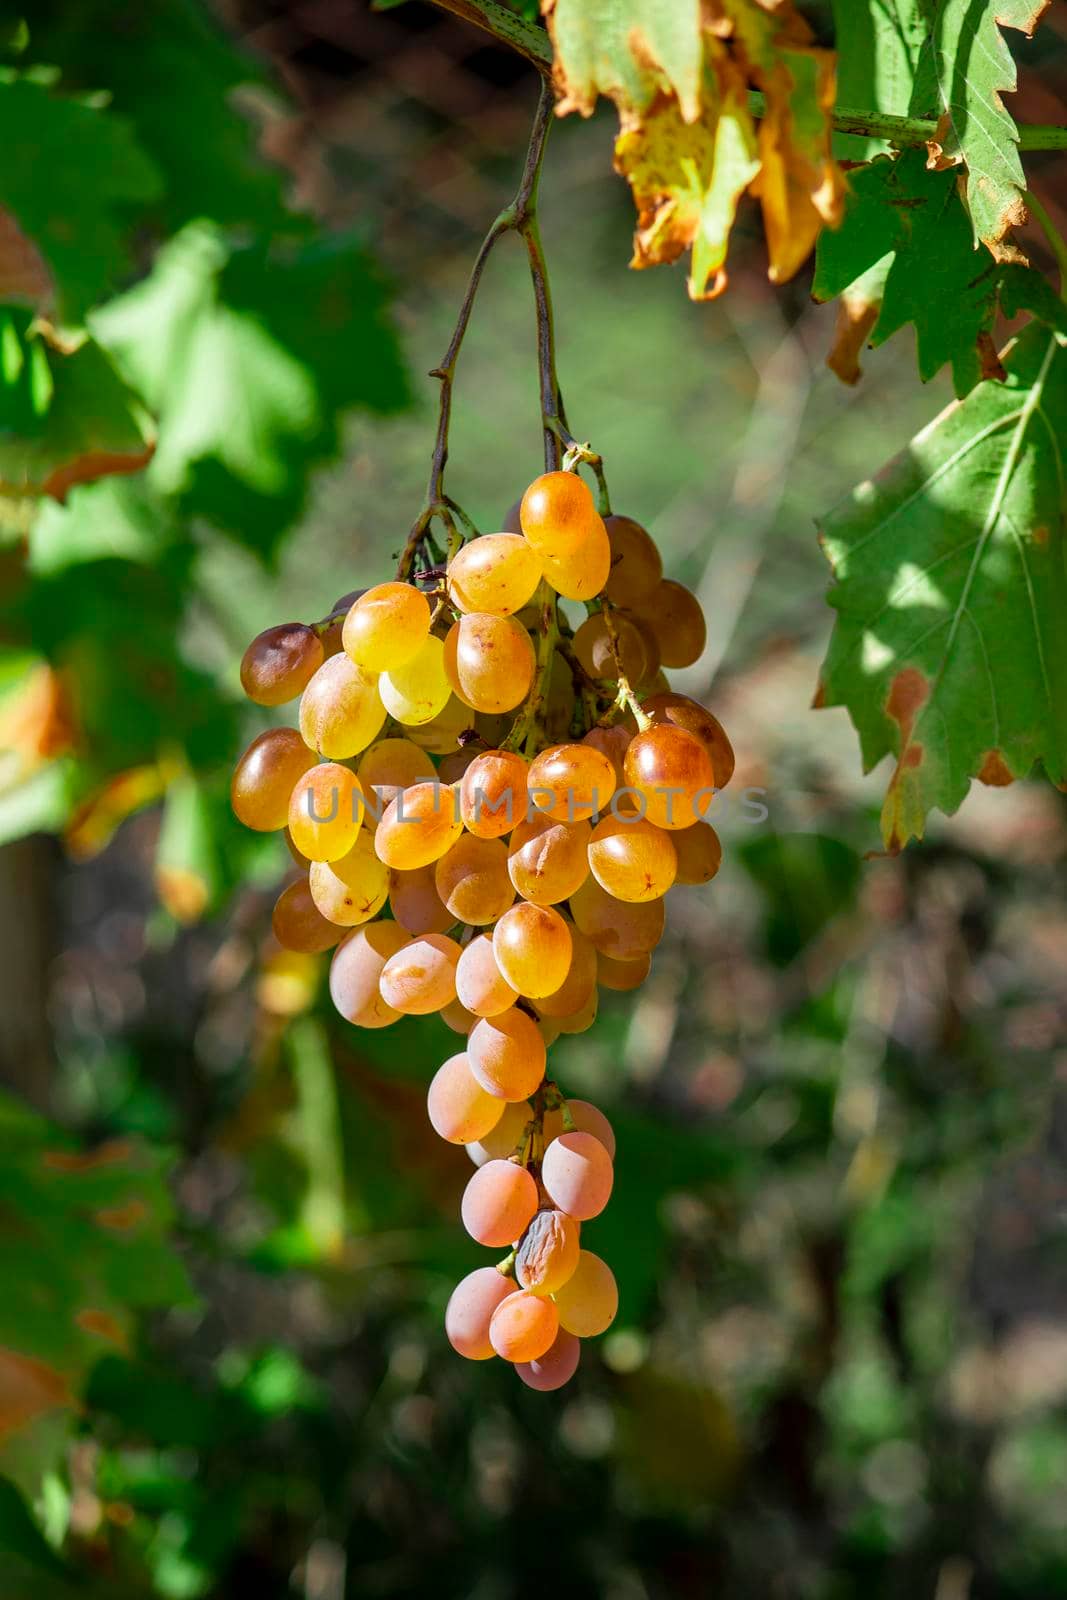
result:
[[[502,13],[502,8],[498,6]],[[467,16],[470,21],[475,19],[474,11],[459,11],[461,16]],[[502,13],[507,14],[507,13]],[[518,19],[515,19],[518,21]],[[440,405],[437,414],[437,435],[434,440],[434,454],[430,458],[430,480],[426,490],[426,501],[422,510],[414,520],[411,533],[405,542],[400,554],[400,562],[397,563],[397,578],[405,582],[411,578],[416,557],[422,546],[422,541],[429,536],[430,525],[434,518],[440,522],[448,530],[448,554],[450,557],[462,544],[462,533],[458,523],[466,528],[467,534],[477,534],[475,525],[470,522],[467,514],[445,494],[445,466],[448,462],[448,429],[451,424],[453,411],[453,387],[456,382],[456,363],[459,360],[459,352],[470,325],[470,314],[474,312],[474,302],[482,285],[482,277],[485,274],[486,262],[496,246],[496,243],[506,234],[518,234],[526,246],[526,258],[530,262],[530,278],[533,283],[534,294],[534,312],[537,326],[537,381],[541,390],[541,427],[544,435],[544,466],[545,472],[553,472],[560,466],[560,458],[563,450],[571,448],[587,448],[576,446],[576,442],[566,432],[561,422],[561,400],[560,400],[560,384],[555,370],[555,322],[552,317],[552,294],[549,290],[549,267],[544,256],[544,245],[541,243],[541,229],[537,224],[537,189],[541,182],[541,168],[544,165],[544,152],[549,139],[549,128],[552,126],[552,107],[555,102],[552,82],[549,77],[542,75],[541,93],[537,96],[537,109],[534,112],[533,128],[530,131],[530,144],[526,146],[526,160],[523,163],[523,174],[518,181],[518,189],[515,190],[514,200],[504,206],[502,211],[496,214],[490,224],[490,230],[478,246],[478,253],[474,258],[474,266],[470,269],[470,277],[467,278],[467,288],[464,298],[459,304],[459,315],[456,317],[456,326],[453,328],[453,336],[448,341],[448,349],[438,366],[434,368],[430,378],[440,379]],[[590,461],[592,464],[592,461]]]

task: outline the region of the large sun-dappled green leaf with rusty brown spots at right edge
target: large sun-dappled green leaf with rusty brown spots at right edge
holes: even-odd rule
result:
[[[974,778],[1067,781],[1067,339],[1032,323],[1005,365],[822,523],[838,619],[816,704],[848,707],[865,770],[896,757],[893,851]]]

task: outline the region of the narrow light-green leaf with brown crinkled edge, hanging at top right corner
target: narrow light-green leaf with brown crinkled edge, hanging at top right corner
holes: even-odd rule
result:
[[[1016,88],[1016,64],[1001,29],[1027,37],[1051,0],[936,0],[918,64],[912,109],[936,115],[931,162],[966,168],[974,243],[1003,261],[1021,259],[1009,232],[1025,221],[1019,130],[1001,94]]]

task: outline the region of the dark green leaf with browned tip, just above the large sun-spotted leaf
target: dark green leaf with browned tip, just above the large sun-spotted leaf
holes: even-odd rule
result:
[[[896,160],[877,157],[849,179],[845,221],[816,246],[811,290],[819,301],[843,298],[835,371],[849,330],[877,347],[912,323],[923,382],[947,363],[961,397],[1000,373],[992,333],[1001,298],[1008,315],[1027,309],[1051,325],[1062,322],[1064,307],[1040,274],[974,250],[950,171],[933,171],[921,152],[909,150]],[[875,315],[862,326],[865,307]],[[846,381],[857,374],[854,366],[841,373]]]

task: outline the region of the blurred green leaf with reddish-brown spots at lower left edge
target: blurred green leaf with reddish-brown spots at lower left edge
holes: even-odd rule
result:
[[[168,1242],[163,1154],[139,1141],[80,1150],[11,1096],[0,1144],[0,1272],[26,1286],[0,1302],[0,1462],[16,1470],[24,1430],[75,1405],[138,1312],[194,1296]]]

